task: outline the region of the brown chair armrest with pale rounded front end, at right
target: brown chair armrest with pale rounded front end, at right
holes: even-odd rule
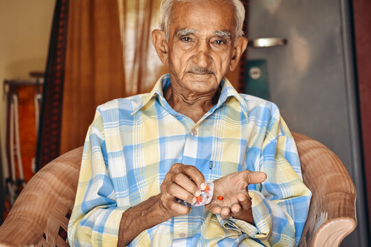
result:
[[[304,183],[313,193],[300,246],[339,246],[357,226],[355,185],[325,145],[295,132],[293,137]]]

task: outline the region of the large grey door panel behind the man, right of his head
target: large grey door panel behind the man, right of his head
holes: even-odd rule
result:
[[[358,226],[341,246],[368,246],[348,1],[250,0],[248,16],[249,40],[287,40],[248,48],[247,60],[267,61],[269,99],[292,131],[333,150],[355,182]]]

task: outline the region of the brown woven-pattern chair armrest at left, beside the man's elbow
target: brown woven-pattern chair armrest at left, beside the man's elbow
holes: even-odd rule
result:
[[[25,186],[0,227],[0,246],[68,246],[82,147],[43,167]]]

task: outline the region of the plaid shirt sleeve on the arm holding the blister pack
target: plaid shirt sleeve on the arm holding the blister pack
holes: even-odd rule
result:
[[[99,108],[98,108],[99,109]],[[87,132],[68,239],[71,246],[117,246],[122,213],[107,169],[102,116]]]

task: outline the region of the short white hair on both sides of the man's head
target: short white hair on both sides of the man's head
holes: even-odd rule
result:
[[[166,34],[166,38],[169,38],[169,23],[172,18],[172,7],[176,2],[179,1],[197,1],[197,0],[162,0],[160,7],[160,28]],[[203,1],[203,0],[198,0]],[[235,32],[234,38],[243,36],[243,21],[245,20],[245,7],[240,0],[227,0],[227,3],[231,5],[234,10],[234,25]]]

